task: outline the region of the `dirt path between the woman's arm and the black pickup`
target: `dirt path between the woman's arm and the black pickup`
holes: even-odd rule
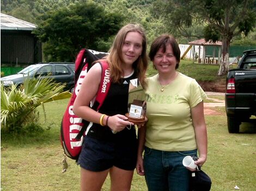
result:
[[[222,92],[205,92],[206,95],[225,95],[225,93]],[[211,115],[222,115],[222,112],[218,112],[214,110],[214,107],[224,107],[225,101],[214,99],[214,98],[208,98],[209,100],[212,100],[212,103],[204,103],[204,114],[211,114]]]

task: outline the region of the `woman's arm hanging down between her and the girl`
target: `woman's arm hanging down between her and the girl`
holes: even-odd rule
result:
[[[136,171],[138,175],[144,176],[144,167],[143,167],[143,150],[145,143],[145,135],[146,135],[146,125],[141,126],[138,129],[138,154],[137,154],[137,165]]]

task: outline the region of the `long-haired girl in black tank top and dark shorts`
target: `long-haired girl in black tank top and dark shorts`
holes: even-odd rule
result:
[[[138,24],[127,24],[115,36],[109,55],[99,61],[109,65],[111,86],[99,111],[90,107],[101,78],[101,66],[95,63],[84,77],[73,112],[91,122],[84,137],[78,164],[81,190],[101,190],[108,173],[111,190],[130,190],[137,162],[137,137],[133,123],[127,121],[128,90],[131,79],[145,86],[147,42]],[[131,128],[127,129],[126,126]],[[114,132],[114,133],[113,133]]]

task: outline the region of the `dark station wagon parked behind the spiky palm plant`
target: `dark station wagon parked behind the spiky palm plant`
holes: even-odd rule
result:
[[[48,77],[53,78],[56,82],[65,83],[66,87],[64,90],[74,91],[75,87],[75,63],[73,62],[40,62],[34,65],[30,65],[22,71],[14,75],[8,75],[7,77],[1,78],[1,83],[7,87],[13,84],[20,86],[23,83],[24,77],[38,78]]]

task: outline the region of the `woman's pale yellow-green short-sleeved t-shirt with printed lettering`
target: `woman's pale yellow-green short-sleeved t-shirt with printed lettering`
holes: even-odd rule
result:
[[[148,78],[147,133],[145,145],[163,151],[186,151],[197,148],[191,108],[206,94],[196,80],[179,73],[161,91],[157,75]]]

